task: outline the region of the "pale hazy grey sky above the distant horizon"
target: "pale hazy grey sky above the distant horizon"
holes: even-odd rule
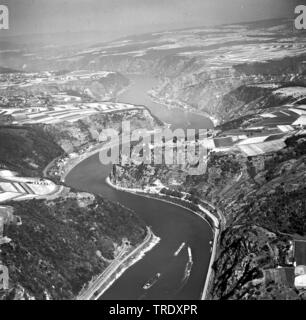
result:
[[[101,40],[160,30],[292,17],[298,0],[0,0],[1,36],[96,30]],[[305,2],[305,1],[300,1]]]

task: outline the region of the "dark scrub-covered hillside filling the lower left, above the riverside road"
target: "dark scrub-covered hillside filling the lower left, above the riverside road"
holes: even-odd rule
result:
[[[1,246],[10,290],[1,299],[74,299],[114,259],[123,239],[140,243],[146,228],[130,210],[91,194],[7,203],[22,225],[7,226]]]

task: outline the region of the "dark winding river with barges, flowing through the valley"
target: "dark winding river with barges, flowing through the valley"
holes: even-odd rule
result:
[[[169,110],[152,102],[147,91],[156,85],[156,79],[145,76],[131,76],[130,79],[132,84],[118,101],[145,105],[158,118],[173,127],[212,127],[208,118],[177,109]],[[209,242],[213,239],[208,223],[173,204],[111,188],[105,182],[110,169],[110,166],[103,166],[99,162],[98,155],[94,155],[76,166],[67,176],[66,183],[133,209],[152,227],[161,241],[142,260],[125,271],[100,299],[200,299],[211,254]],[[174,255],[183,242],[186,245],[178,255]],[[190,275],[186,276],[188,247],[191,249],[193,264]],[[151,288],[145,290],[144,284],[157,273],[161,276]]]

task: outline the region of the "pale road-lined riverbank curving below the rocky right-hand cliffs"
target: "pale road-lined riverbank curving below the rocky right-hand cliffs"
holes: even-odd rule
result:
[[[203,291],[201,293],[201,300],[207,300],[208,298],[208,295],[209,295],[209,292],[210,292],[210,288],[211,288],[211,285],[213,283],[213,279],[214,279],[214,273],[213,273],[213,269],[212,269],[212,266],[213,266],[213,263],[215,261],[215,258],[216,258],[216,253],[217,253],[217,248],[218,248],[218,242],[219,242],[219,235],[220,235],[220,222],[219,222],[219,219],[213,215],[211,212],[209,212],[209,210],[205,209],[203,206],[201,205],[198,205],[198,209],[203,212],[205,215],[207,215],[209,217],[209,219],[211,221],[208,221],[206,217],[204,217],[203,215],[201,215],[200,213],[190,209],[188,206],[187,206],[187,202],[186,200],[181,200],[183,202],[186,202],[186,206],[184,206],[183,204],[179,204],[175,201],[173,201],[171,199],[171,196],[164,196],[163,197],[166,197],[165,199],[162,199],[160,197],[157,197],[158,196],[161,196],[160,193],[158,192],[145,192],[144,190],[142,189],[137,189],[137,188],[133,188],[133,189],[129,189],[129,188],[124,188],[124,187],[120,187],[120,186],[117,186],[115,184],[113,184],[110,180],[110,178],[106,178],[106,183],[116,189],[116,190],[120,190],[120,191],[123,191],[123,192],[130,192],[130,193],[133,193],[133,194],[136,194],[138,196],[142,196],[142,197],[146,197],[146,198],[151,198],[151,199],[157,199],[159,201],[163,201],[163,202],[166,202],[166,203],[170,203],[170,204],[173,204],[173,205],[176,205],[176,206],[179,206],[179,207],[182,207],[184,208],[185,210],[189,211],[189,212],[192,212],[193,214],[196,214],[197,216],[199,216],[201,219],[203,219],[205,222],[209,223],[209,225],[212,227],[213,229],[213,233],[214,233],[214,240],[213,240],[213,246],[212,246],[212,251],[211,251],[211,256],[210,256],[210,261],[209,261],[209,267],[208,267],[208,271],[207,271],[207,275],[206,275],[206,280],[205,280],[205,284],[204,284],[204,288],[203,288]],[[155,196],[154,196],[155,195]],[[212,223],[211,223],[212,222]]]

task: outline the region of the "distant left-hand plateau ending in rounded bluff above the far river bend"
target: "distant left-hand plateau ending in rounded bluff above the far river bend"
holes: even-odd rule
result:
[[[51,79],[47,75],[52,75]],[[12,77],[12,74],[8,76]],[[5,75],[3,76],[3,78]],[[118,72],[84,73],[80,72],[52,72],[52,73],[17,73],[15,74],[16,85],[0,88],[0,96],[3,108],[30,107],[25,104],[25,99],[45,100],[44,106],[54,104],[54,96],[67,93],[74,97],[81,97],[88,101],[110,100],[116,97],[118,92],[129,84],[129,80]],[[5,79],[5,78],[4,78]],[[13,77],[11,78],[11,80]],[[1,100],[0,100],[1,101]]]

